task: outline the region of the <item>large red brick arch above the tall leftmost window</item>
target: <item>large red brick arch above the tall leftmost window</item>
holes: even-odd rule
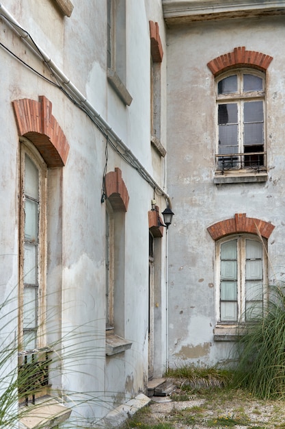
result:
[[[69,145],[66,136],[51,113],[52,103],[46,97],[39,101],[12,101],[18,135],[29,138],[48,167],[64,167]]]

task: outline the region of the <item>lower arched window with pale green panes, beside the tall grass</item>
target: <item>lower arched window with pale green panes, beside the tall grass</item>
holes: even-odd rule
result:
[[[266,245],[254,234],[217,241],[218,323],[243,323],[262,311],[267,299]]]

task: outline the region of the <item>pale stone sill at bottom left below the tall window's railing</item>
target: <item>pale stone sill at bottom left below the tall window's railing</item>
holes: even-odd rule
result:
[[[23,417],[20,419],[21,429],[51,429],[70,417],[71,410],[50,398],[36,405],[21,408]],[[20,411],[21,414],[21,411]]]

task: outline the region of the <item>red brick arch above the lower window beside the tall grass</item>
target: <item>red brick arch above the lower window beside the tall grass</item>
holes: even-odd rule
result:
[[[245,213],[236,213],[233,219],[214,223],[207,229],[213,240],[219,240],[219,238],[239,232],[248,232],[269,238],[274,228],[275,226],[272,223],[261,221],[254,217],[247,217]]]

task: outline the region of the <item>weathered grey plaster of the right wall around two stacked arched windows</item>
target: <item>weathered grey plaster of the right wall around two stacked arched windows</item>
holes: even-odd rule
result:
[[[167,32],[167,179],[176,215],[169,229],[172,365],[228,358],[230,344],[213,338],[217,285],[209,225],[235,213],[273,223],[269,278],[284,266],[284,36],[283,19],[277,16],[189,23]],[[239,46],[273,56],[267,70],[268,180],[215,185],[215,79],[206,64]]]

